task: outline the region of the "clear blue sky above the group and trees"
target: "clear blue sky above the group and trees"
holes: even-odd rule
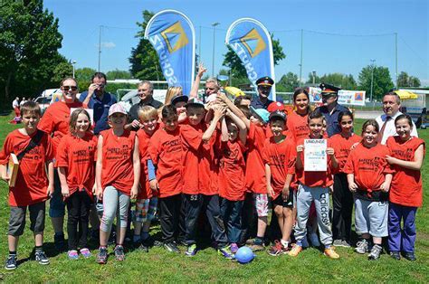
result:
[[[201,58],[212,70],[213,28],[215,73],[226,52],[224,37],[230,24],[253,17],[280,39],[287,57],[276,66],[282,74],[300,73],[300,30],[303,36],[302,77],[310,71],[353,74],[369,65],[386,66],[395,79],[395,35],[398,34],[398,72],[406,71],[429,85],[429,1],[427,0],[283,0],[283,1],[136,1],[136,0],[45,0],[44,7],[60,22],[63,35],[60,52],[76,61],[76,68],[98,66],[101,33],[101,71],[128,70],[131,48],[137,46],[137,22],[142,11],[176,9],[195,26]],[[201,26],[201,39],[200,39]],[[196,48],[196,52],[199,48]]]

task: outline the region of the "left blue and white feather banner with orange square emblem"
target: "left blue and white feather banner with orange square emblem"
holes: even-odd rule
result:
[[[189,95],[195,78],[195,30],[189,18],[176,10],[158,12],[148,22],[145,39],[157,51],[168,87],[181,86]]]

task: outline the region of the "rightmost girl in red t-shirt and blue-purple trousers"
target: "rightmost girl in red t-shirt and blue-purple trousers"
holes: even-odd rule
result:
[[[396,171],[389,193],[389,251],[392,258],[400,260],[400,251],[405,259],[415,258],[415,213],[422,206],[422,175],[425,143],[412,137],[413,121],[408,115],[395,119],[397,136],[388,137],[386,146],[392,152],[386,156],[387,163]],[[401,228],[401,221],[404,222]]]

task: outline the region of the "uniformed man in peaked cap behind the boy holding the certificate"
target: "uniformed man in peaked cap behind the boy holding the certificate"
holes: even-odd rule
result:
[[[321,83],[319,87],[322,90],[323,106],[319,107],[318,110],[325,117],[326,131],[328,136],[331,137],[341,132],[341,127],[338,123],[339,113],[349,109],[338,104],[338,90],[340,90],[338,87],[325,83]]]

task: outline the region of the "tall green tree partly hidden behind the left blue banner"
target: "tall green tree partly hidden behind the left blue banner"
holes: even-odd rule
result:
[[[143,38],[148,21],[154,14],[148,10],[144,10],[142,14],[143,22],[137,23],[141,31],[136,35],[137,38],[140,38],[140,41],[137,47],[131,50],[131,56],[129,57],[131,66],[129,71],[134,78],[140,80],[165,80],[157,52],[149,41]]]

